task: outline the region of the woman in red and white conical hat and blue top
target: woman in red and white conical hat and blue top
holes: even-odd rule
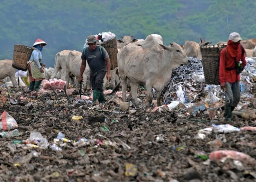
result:
[[[39,90],[39,86],[43,79],[45,79],[43,67],[44,64],[41,63],[42,61],[42,54],[41,51],[43,47],[47,43],[41,39],[37,39],[33,44],[35,48],[31,54],[28,63],[28,71],[29,71],[29,90]]]

